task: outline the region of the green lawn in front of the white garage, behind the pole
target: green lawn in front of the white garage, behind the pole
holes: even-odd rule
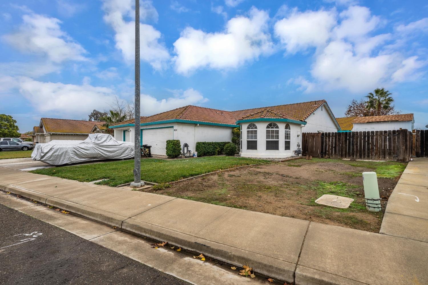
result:
[[[228,156],[208,156],[194,159],[142,159],[141,179],[167,183],[179,179],[237,166],[266,163],[265,160]],[[63,166],[30,171],[82,182],[108,179],[98,184],[117,186],[134,181],[134,160]]]

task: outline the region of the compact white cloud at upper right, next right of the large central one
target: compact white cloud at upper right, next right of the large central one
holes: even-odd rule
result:
[[[326,44],[330,30],[336,25],[336,11],[306,11],[294,9],[287,18],[275,24],[275,35],[289,53]]]

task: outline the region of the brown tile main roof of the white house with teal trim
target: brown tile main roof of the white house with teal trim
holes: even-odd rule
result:
[[[325,100],[310,101],[303,103],[294,103],[287,105],[278,105],[270,107],[262,107],[255,109],[246,109],[239,111],[223,111],[199,106],[184,106],[170,111],[162,112],[156,115],[149,117],[141,117],[141,123],[149,122],[161,122],[164,120],[192,120],[208,123],[223,123],[235,125],[237,120],[240,120],[243,117],[247,117],[250,114],[259,114],[260,112],[266,111],[269,114],[279,115],[270,115],[270,116],[279,116],[279,117],[266,117],[266,118],[289,118],[292,120],[304,121],[309,117],[318,107],[327,103]],[[265,114],[266,115],[266,114]],[[261,117],[258,117],[261,118]],[[134,120],[127,120],[121,123],[116,123],[114,125],[124,125],[128,123],[134,123]],[[112,126],[114,126],[112,125]]]

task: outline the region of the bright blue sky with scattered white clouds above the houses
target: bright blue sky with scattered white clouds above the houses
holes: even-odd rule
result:
[[[133,3],[2,1],[0,113],[25,132],[133,101]],[[140,3],[142,115],[326,99],[342,117],[384,87],[428,124],[426,1]]]

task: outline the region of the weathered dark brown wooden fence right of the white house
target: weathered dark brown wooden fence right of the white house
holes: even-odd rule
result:
[[[302,152],[303,155],[320,158],[408,162],[412,155],[412,138],[412,132],[407,129],[367,132],[306,132],[302,134]],[[421,143],[422,139],[419,144]]]

